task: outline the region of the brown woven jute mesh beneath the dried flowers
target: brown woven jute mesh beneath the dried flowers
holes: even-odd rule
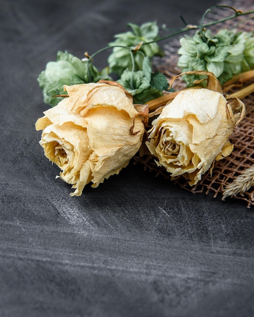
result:
[[[242,11],[253,10],[253,0],[226,1],[220,3],[220,5],[232,6],[237,10]],[[234,14],[234,12],[230,11],[230,9],[215,9],[207,15],[204,23],[219,20],[232,14]],[[238,17],[210,27],[214,32],[221,28],[236,28],[241,31],[254,31],[253,15],[251,18],[249,18],[249,16]],[[194,34],[191,32],[188,35]],[[177,67],[179,58],[177,51],[180,47],[179,38],[171,38],[169,41],[170,42],[164,46],[165,56],[163,58],[155,59],[154,63],[155,68],[164,72],[170,79],[174,75],[179,74],[181,70]],[[251,83],[245,83],[245,85],[248,84]],[[185,83],[180,81],[177,81],[176,86],[174,86],[177,90],[185,87]],[[227,93],[233,93],[235,91],[236,89]],[[202,176],[201,181],[195,186],[191,187],[189,183],[182,178],[174,180],[175,183],[193,193],[212,193],[214,197],[221,197],[222,199],[224,188],[232,183],[243,170],[254,166],[254,94],[248,95],[243,98],[242,101],[246,106],[246,116],[240,125],[235,127],[230,138],[231,142],[234,144],[233,152],[225,157],[225,159],[215,162],[212,174],[210,175],[210,171],[207,171],[207,173]],[[170,179],[169,173],[167,173],[164,168],[158,167],[154,157],[151,155],[141,157],[137,155],[135,161],[141,163],[145,169],[153,171],[155,175],[161,174],[163,177]],[[230,198],[227,197],[226,200],[228,199]],[[247,192],[235,195],[233,199],[245,201],[248,208],[254,206],[254,188],[251,187]]]

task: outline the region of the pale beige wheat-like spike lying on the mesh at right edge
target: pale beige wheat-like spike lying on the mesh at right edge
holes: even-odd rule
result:
[[[251,186],[254,186],[254,165],[242,171],[232,183],[225,187],[222,199],[224,200],[226,197],[232,197],[238,193],[244,193]]]

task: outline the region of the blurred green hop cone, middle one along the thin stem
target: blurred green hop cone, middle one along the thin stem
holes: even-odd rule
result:
[[[109,43],[109,46],[124,46],[124,47],[135,47],[141,42],[147,43],[156,41],[159,39],[159,27],[156,22],[147,22],[138,26],[133,23],[129,23],[132,31],[116,34],[116,40]],[[153,57],[155,55],[163,56],[164,52],[157,43],[151,43],[148,45],[142,45],[139,48],[145,56]],[[141,70],[143,63],[143,54],[134,52],[134,70]],[[125,69],[132,69],[132,60],[129,50],[123,47],[114,47],[112,54],[108,57],[108,65],[110,71],[121,76]]]

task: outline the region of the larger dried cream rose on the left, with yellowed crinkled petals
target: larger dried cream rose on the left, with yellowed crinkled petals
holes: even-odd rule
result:
[[[69,97],[44,112],[35,127],[43,130],[45,155],[79,196],[86,184],[97,187],[126,167],[138,151],[144,125],[132,97],[115,82],[65,86]],[[143,110],[143,109],[142,109]]]

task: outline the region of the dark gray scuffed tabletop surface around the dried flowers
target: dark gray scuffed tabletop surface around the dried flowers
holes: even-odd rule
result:
[[[253,316],[253,209],[132,163],[70,197],[34,130],[48,108],[37,76],[58,50],[82,58],[127,22],[197,23],[214,4],[0,1],[1,317]]]

